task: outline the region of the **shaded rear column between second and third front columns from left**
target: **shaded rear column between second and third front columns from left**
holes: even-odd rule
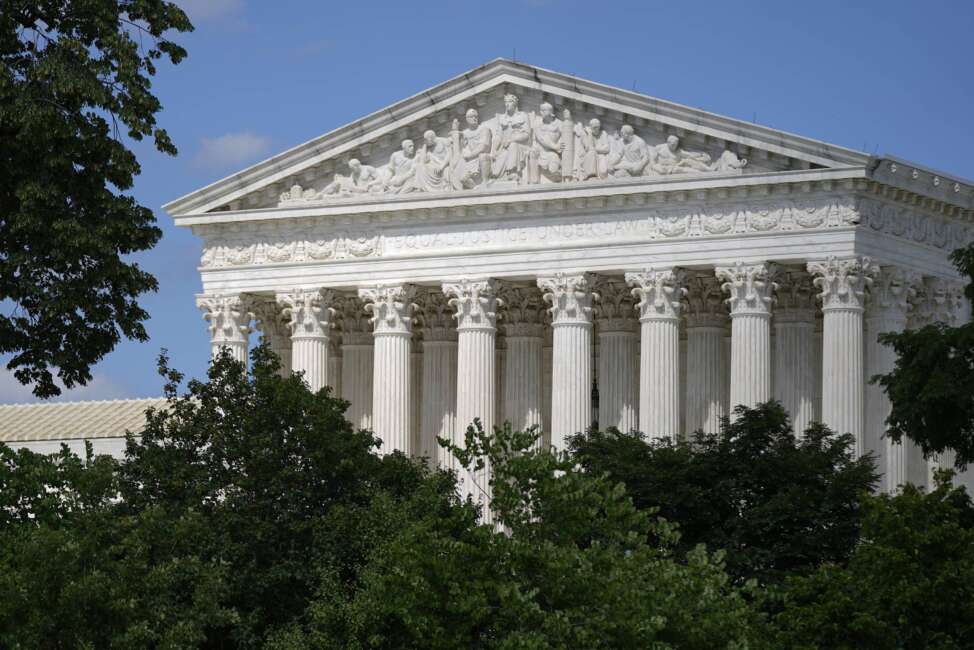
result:
[[[372,429],[372,373],[375,346],[372,326],[358,297],[339,301],[342,316],[342,399],[345,417],[359,429]]]

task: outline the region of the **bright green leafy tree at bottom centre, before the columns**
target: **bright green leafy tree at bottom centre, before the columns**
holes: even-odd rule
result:
[[[467,469],[493,467],[501,532],[458,509],[414,520],[376,547],[350,601],[323,582],[309,624],[271,647],[746,647],[757,621],[719,556],[678,562],[672,524],[536,440],[478,424],[453,448]]]

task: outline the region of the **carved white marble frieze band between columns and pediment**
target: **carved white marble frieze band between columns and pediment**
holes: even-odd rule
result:
[[[469,169],[480,169],[480,162]],[[331,262],[458,248],[720,237],[848,226],[859,226],[942,250],[956,248],[974,238],[974,229],[968,223],[925,214],[908,206],[875,199],[856,201],[853,197],[789,198],[675,206],[652,209],[648,214],[597,214],[571,220],[552,215],[545,222],[534,223],[485,222],[476,226],[411,223],[405,227],[390,224],[384,227],[382,234],[371,224],[360,231],[347,226],[333,231],[325,227],[315,229],[313,235],[307,227],[290,224],[273,224],[270,229],[258,229],[249,224],[230,233],[212,236],[204,233],[206,245],[200,265],[225,268]]]

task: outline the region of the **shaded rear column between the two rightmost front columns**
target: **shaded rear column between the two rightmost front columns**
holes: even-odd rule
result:
[[[781,274],[774,329],[774,397],[802,436],[815,420],[815,290],[804,271]]]

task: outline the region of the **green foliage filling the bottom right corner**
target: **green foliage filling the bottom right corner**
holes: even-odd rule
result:
[[[864,499],[862,543],[846,566],[790,578],[766,597],[781,648],[969,648],[974,507],[962,489]]]

